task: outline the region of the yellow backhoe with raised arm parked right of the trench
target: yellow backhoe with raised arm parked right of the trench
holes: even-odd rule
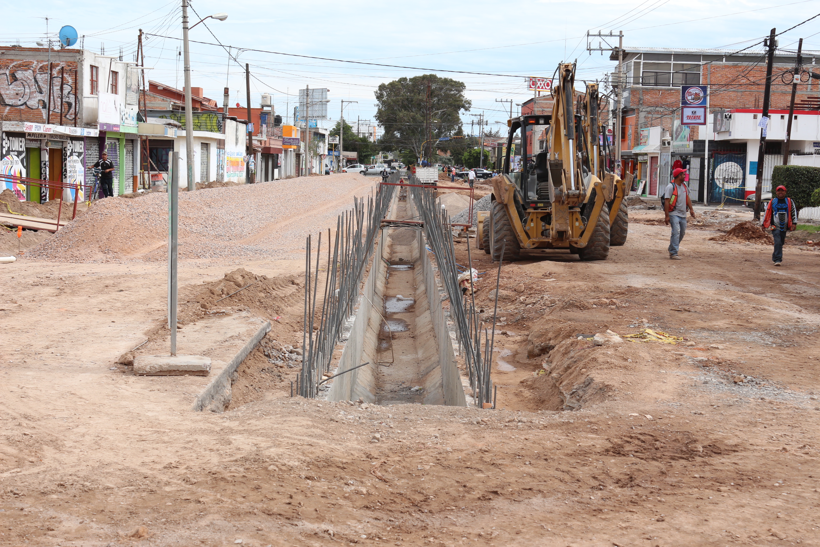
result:
[[[603,170],[597,86],[588,87],[581,108],[573,83],[574,66],[560,65],[552,115],[509,122],[503,177],[494,181],[492,211],[479,226],[480,246],[493,260],[501,258],[502,248],[504,260],[519,260],[522,252],[543,248],[565,248],[581,260],[607,258],[608,202],[620,210],[624,184]],[[545,145],[538,143],[542,130]]]

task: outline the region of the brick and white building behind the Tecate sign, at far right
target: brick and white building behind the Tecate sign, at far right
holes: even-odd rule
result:
[[[795,66],[795,53],[777,52],[772,71],[772,116],[782,116],[789,107],[791,76]],[[610,57],[617,61],[617,54]],[[762,50],[736,53],[714,49],[664,49],[625,48],[623,55],[626,85],[623,93],[623,124],[621,131],[622,158],[627,171],[637,177],[636,185],[643,184],[643,194],[657,195],[663,192],[669,171],[676,162],[690,167],[690,189],[696,201],[723,201],[742,198],[754,187],[757,169],[757,139],[746,134],[732,135],[722,129],[723,120],[731,120],[734,112],[742,111],[758,115],[763,107],[763,87],[766,81],[766,55]],[[804,52],[804,71],[820,72],[820,53]],[[797,109],[802,116],[817,116],[817,95],[820,80],[803,77],[798,85]],[[683,126],[681,116],[681,85],[701,84],[709,86],[709,113],[706,126]],[[717,113],[718,126],[714,125]],[[811,153],[813,135],[808,124],[800,135],[791,141],[791,153]],[[710,171],[702,175],[705,141],[708,135]],[[662,147],[664,138],[672,139],[672,147]],[[763,169],[764,185],[771,184],[771,171],[776,158],[782,157],[785,132],[768,135],[767,160]],[[771,159],[770,159],[771,158]],[[724,180],[713,176],[728,171],[718,169],[724,162],[733,162],[735,178]],[[740,171],[738,171],[740,169]],[[716,171],[717,170],[717,171]],[[742,172],[741,172],[742,171]],[[751,176],[749,176],[751,175]],[[708,179],[708,182],[707,182]],[[731,188],[729,188],[731,187]],[[731,190],[728,191],[727,190]],[[731,194],[731,195],[727,195]],[[731,199],[730,199],[731,201]]]

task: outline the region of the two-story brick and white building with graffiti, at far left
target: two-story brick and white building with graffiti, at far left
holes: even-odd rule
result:
[[[2,174],[89,184],[103,151],[116,166],[114,192],[134,187],[140,71],[117,56],[73,48],[0,51]],[[6,179],[20,199],[45,202],[57,189]],[[73,198],[73,192],[63,192]]]

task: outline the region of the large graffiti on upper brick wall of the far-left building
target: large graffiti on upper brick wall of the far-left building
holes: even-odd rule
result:
[[[52,62],[51,66],[51,121],[54,123],[56,120],[59,123],[60,112],[63,121],[74,121],[77,116],[77,63]],[[39,111],[39,115],[34,116],[36,119],[25,116],[25,121],[46,121],[46,106],[49,104],[48,80],[48,62],[0,59],[2,117],[10,121],[23,120],[25,114],[32,113],[30,111]]]

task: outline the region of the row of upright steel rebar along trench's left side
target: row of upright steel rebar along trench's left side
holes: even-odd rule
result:
[[[399,173],[390,175],[389,182],[399,182]],[[302,370],[297,393],[302,397],[317,396],[321,376],[330,370],[335,345],[342,339],[344,324],[353,314],[359,296],[362,276],[367,269],[380,221],[393,198],[395,186],[380,185],[368,198],[354,198],[353,209],[336,220],[334,243],[328,245],[324,280],[324,296],[318,298],[322,261],[322,235],[313,249],[313,237],[307,236],[305,246],[304,333],[302,339]],[[327,230],[327,240],[331,232]],[[312,264],[315,256],[315,264]],[[321,307],[317,313],[317,304]]]

